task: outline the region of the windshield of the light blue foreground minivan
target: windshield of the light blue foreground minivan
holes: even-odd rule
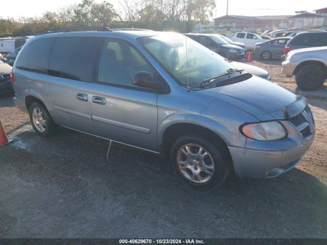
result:
[[[138,42],[182,85],[201,84],[234,68],[220,55],[180,34],[142,37]]]

